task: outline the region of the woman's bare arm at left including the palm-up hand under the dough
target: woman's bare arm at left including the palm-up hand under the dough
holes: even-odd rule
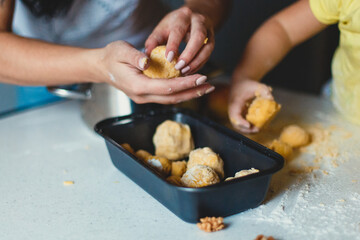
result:
[[[201,75],[149,79],[142,74],[147,56],[118,41],[100,49],[55,45],[11,32],[15,0],[0,0],[0,81],[18,85],[106,82],[137,103],[177,103],[209,92],[197,86]]]

